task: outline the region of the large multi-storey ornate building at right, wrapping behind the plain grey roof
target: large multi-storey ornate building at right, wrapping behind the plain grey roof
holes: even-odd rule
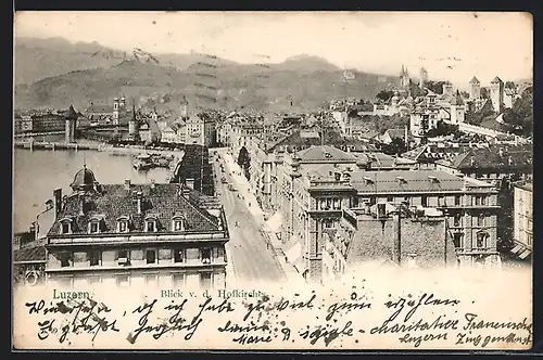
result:
[[[489,183],[443,171],[368,171],[346,164],[302,169],[299,159],[287,162],[292,169],[281,187],[283,244],[290,261],[303,265],[307,280],[320,280],[323,234],[337,228],[344,209],[370,214],[372,206],[386,203],[444,216],[459,266],[500,266],[500,206],[497,191]]]

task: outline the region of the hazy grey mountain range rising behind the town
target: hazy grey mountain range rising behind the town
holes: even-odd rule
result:
[[[213,55],[151,54],[64,38],[17,38],[15,107],[87,107],[124,94],[135,105],[311,110],[334,98],[371,99],[393,76],[344,70],[325,59],[295,55],[278,64],[240,64]]]

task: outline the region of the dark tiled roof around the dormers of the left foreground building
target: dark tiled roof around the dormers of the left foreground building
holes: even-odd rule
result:
[[[205,209],[199,208],[198,204],[189,201],[179,194],[179,187],[174,183],[157,183],[154,189],[150,184],[131,184],[130,191],[125,190],[124,184],[101,185],[101,192],[90,192],[86,195],[87,210],[80,214],[83,200],[78,194],[72,194],[66,198],[62,210],[49,235],[60,233],[60,220],[72,218],[75,222],[74,232],[86,233],[88,221],[93,216],[103,216],[103,232],[112,233],[116,231],[116,220],[123,216],[130,218],[132,231],[143,231],[146,214],[153,214],[159,219],[159,231],[167,232],[172,217],[176,213],[181,213],[187,221],[188,231],[216,231],[219,230],[219,221]],[[137,211],[137,202],[134,192],[141,192],[142,214]]]

